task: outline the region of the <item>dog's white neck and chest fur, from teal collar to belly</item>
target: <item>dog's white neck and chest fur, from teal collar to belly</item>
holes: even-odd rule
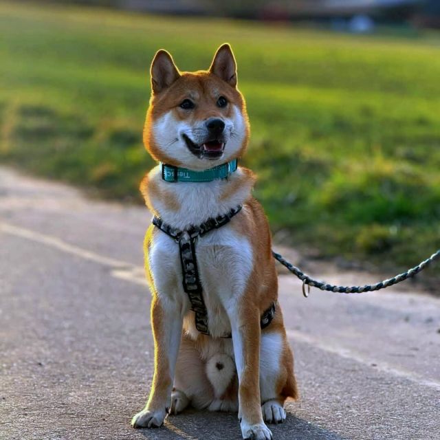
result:
[[[237,173],[234,177],[240,178],[239,171]],[[249,197],[252,183],[244,182],[229,197],[221,199],[225,186],[232,184],[234,177],[230,181],[212,181],[206,184],[166,184],[161,181],[166,190],[173,190],[181,208],[167,210],[166,203],[153,199],[154,208],[165,223],[180,230],[189,225],[198,225],[210,217],[228,212]],[[243,212],[237,214],[231,223],[239,221],[241,215]],[[227,311],[236,307],[253,267],[252,246],[245,236],[232,228],[231,223],[199,237],[195,245],[203,300],[208,310],[208,326],[212,336],[223,336],[230,332]],[[197,336],[194,313],[190,311],[188,295],[182,285],[179,245],[164,232],[158,231],[148,259],[157,294],[163,298],[164,304],[173,302],[174,305],[179,305],[181,313],[186,316],[186,331]]]

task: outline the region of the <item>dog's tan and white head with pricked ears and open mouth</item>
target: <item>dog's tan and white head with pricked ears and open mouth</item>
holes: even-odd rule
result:
[[[144,144],[166,164],[194,170],[212,168],[243,155],[249,137],[248,114],[236,88],[230,45],[217,50],[207,71],[179,72],[159,50],[151,63],[151,100]]]

